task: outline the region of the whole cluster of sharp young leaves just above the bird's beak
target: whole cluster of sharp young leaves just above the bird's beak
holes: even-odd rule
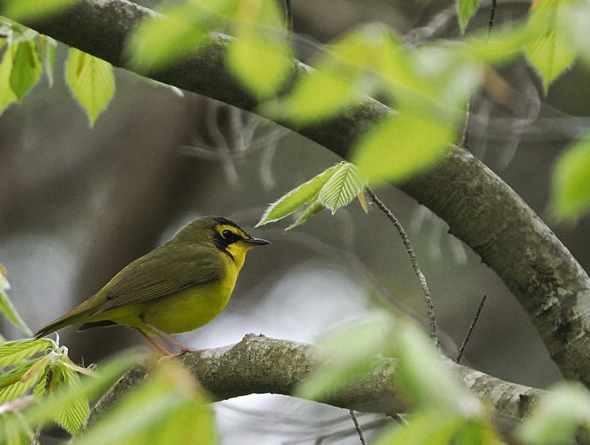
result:
[[[355,197],[359,198],[360,205],[367,211],[364,187],[365,183],[356,167],[350,162],[342,161],[270,204],[256,227],[281,220],[305,205],[306,208],[297,221],[285,229],[289,230],[323,208],[329,208],[334,214]]]

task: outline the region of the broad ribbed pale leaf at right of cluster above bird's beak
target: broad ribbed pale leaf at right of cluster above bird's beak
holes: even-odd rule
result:
[[[362,193],[365,184],[360,179],[358,169],[350,162],[342,162],[319,192],[318,200],[332,214],[340,207],[348,205],[356,195]]]

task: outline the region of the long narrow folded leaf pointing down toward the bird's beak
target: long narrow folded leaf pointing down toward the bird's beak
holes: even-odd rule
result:
[[[340,168],[342,163],[332,166],[324,170],[319,175],[304,182],[299,187],[294,188],[290,192],[287,192],[283,197],[270,204],[264,214],[256,224],[259,225],[268,224],[268,222],[278,221],[284,218],[296,210],[299,210],[303,205],[311,202],[317,194],[319,194],[322,186],[326,184],[328,179]]]

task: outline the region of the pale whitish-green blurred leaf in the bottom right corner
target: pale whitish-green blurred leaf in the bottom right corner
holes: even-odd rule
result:
[[[536,445],[576,443],[576,431],[590,431],[590,393],[579,383],[560,383],[523,420],[520,439]]]

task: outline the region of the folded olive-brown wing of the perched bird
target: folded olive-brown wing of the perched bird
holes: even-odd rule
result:
[[[162,246],[163,247],[163,246]],[[107,292],[107,301],[96,312],[143,303],[171,295],[196,284],[222,279],[222,263],[218,252],[204,246],[176,246],[173,253],[159,249],[133,261],[121,272]]]

